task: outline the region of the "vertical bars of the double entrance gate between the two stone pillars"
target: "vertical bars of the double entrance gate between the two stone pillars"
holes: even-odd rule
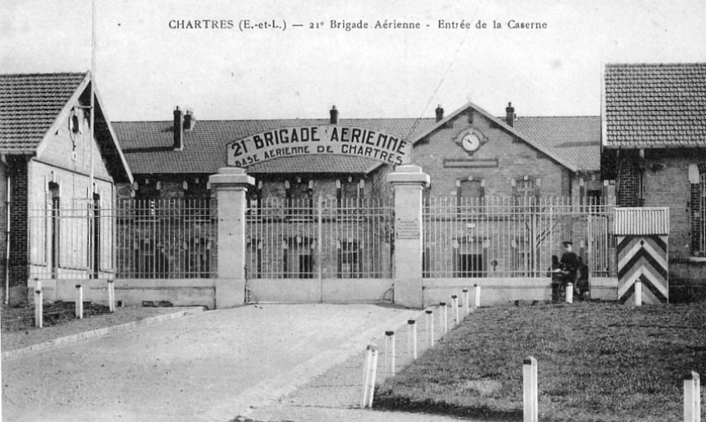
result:
[[[392,277],[393,207],[386,203],[263,200],[250,208],[246,233],[250,279]]]

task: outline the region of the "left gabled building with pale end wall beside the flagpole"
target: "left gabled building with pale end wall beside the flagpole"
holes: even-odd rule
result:
[[[111,271],[109,237],[88,251],[89,239],[73,243],[68,234],[97,230],[84,220],[52,219],[86,203],[96,210],[111,207],[114,183],[132,181],[97,93],[90,139],[90,85],[90,73],[0,76],[1,277],[12,299],[26,297],[32,277],[101,277]]]

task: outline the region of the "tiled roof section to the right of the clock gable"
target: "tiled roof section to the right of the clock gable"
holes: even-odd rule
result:
[[[600,116],[518,116],[515,129],[578,171],[601,169]]]

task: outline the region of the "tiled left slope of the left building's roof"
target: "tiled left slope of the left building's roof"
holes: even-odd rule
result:
[[[0,152],[35,152],[86,73],[0,75]]]

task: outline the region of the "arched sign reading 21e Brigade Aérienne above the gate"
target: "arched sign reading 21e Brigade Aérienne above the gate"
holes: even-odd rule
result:
[[[227,145],[227,165],[248,167],[292,155],[349,155],[388,164],[407,164],[412,144],[402,138],[351,126],[278,128],[235,140]]]

